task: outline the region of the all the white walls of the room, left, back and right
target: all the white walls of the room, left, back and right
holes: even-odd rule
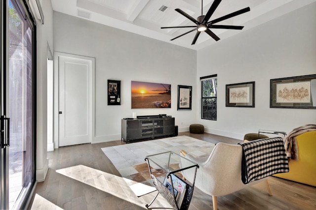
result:
[[[53,11],[42,0],[45,24],[37,26],[37,180],[47,169],[47,41],[51,51],[96,58],[96,138],[120,138],[120,119],[172,115],[179,130],[193,122],[241,139],[258,129],[289,132],[316,123],[316,110],[269,108],[270,79],[316,73],[316,3],[198,52]],[[53,30],[54,21],[54,30]],[[54,34],[54,35],[53,35]],[[207,62],[205,62],[205,60]],[[200,120],[199,77],[218,74],[218,120]],[[108,79],[121,80],[121,106],[107,106]],[[132,110],[130,81],[172,85],[171,109]],[[225,85],[255,81],[255,108],[225,107]],[[177,111],[177,85],[193,86],[193,110]],[[183,122],[183,124],[182,124]]]

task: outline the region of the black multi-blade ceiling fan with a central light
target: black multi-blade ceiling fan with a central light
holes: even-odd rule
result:
[[[207,11],[206,15],[203,15],[203,0],[202,0],[202,12],[201,12],[201,16],[197,17],[197,20],[194,19],[193,17],[191,17],[190,15],[188,15],[187,13],[185,13],[184,11],[182,11],[181,9],[175,9],[177,12],[179,12],[181,15],[185,16],[186,18],[188,18],[189,20],[191,20],[193,23],[197,24],[196,26],[174,26],[174,27],[161,27],[161,29],[173,29],[173,28],[195,28],[193,30],[189,30],[188,32],[185,32],[173,39],[170,39],[171,41],[172,40],[175,40],[176,38],[179,38],[183,35],[186,35],[192,31],[195,31],[197,30],[197,33],[192,41],[192,44],[195,44],[196,41],[197,41],[197,38],[200,34],[200,32],[202,31],[205,31],[208,35],[210,35],[213,39],[215,39],[215,41],[218,41],[220,40],[220,38],[215,34],[213,33],[210,29],[235,29],[235,30],[242,30],[243,29],[243,26],[227,26],[227,25],[213,25],[215,23],[218,23],[220,21],[223,21],[223,20],[226,20],[226,19],[229,19],[229,18],[232,18],[234,16],[237,16],[237,15],[240,15],[242,13],[245,13],[245,12],[249,12],[250,11],[250,8],[249,7],[246,7],[246,8],[243,8],[243,9],[240,9],[236,12],[233,12],[233,13],[230,13],[228,15],[224,15],[223,17],[220,17],[220,18],[217,18],[215,20],[212,20],[212,21],[208,21],[210,19],[210,17],[213,15],[214,11],[216,10],[217,6],[220,4],[222,0],[214,0],[214,2],[212,3],[211,7],[209,8],[209,10]]]

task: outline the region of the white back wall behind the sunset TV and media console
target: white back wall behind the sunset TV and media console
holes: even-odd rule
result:
[[[133,112],[171,115],[180,131],[195,122],[196,106],[177,111],[177,86],[196,89],[196,51],[55,11],[54,51],[95,58],[92,143],[119,140],[121,119],[131,118]],[[107,105],[108,79],[121,81],[120,106]],[[131,109],[131,81],[171,84],[171,109]]]

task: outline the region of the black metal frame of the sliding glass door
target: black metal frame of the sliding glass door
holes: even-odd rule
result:
[[[36,21],[33,18],[33,14],[31,12],[31,7],[28,1],[25,0],[11,0],[11,2],[19,8],[18,12],[24,18],[24,21],[27,21],[32,29],[32,120],[33,120],[33,160],[32,161],[32,174],[33,179],[31,184],[28,187],[23,187],[21,190],[18,199],[16,200],[16,204],[14,205],[15,208],[18,209],[25,209],[30,201],[32,190],[35,186],[36,182],[36,58],[37,58],[37,44],[36,44]],[[1,60],[1,69],[0,69],[0,116],[5,116],[7,113],[6,107],[8,106],[8,98],[7,98],[7,90],[8,90],[8,60],[9,60],[9,5],[8,0],[1,0],[0,3],[0,22],[1,22],[1,36],[0,36],[0,60]],[[4,147],[4,149],[0,149],[0,209],[9,209],[9,199],[8,199],[8,192],[9,192],[9,148]],[[4,161],[3,161],[4,160]]]

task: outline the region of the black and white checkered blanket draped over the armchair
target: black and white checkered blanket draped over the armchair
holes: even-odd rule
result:
[[[241,180],[248,184],[273,174],[289,172],[281,137],[238,143],[241,145]]]

